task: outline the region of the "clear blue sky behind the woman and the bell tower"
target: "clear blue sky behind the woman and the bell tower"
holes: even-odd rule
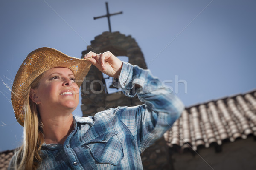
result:
[[[148,68],[186,106],[256,88],[256,1],[109,0],[108,5],[110,13],[123,11],[111,17],[112,32],[135,38]],[[93,20],[104,14],[105,0],[1,0],[0,151],[19,146],[23,133],[3,82],[12,86],[36,48],[80,58],[95,36],[108,31],[106,18]],[[80,106],[73,114],[81,116]]]

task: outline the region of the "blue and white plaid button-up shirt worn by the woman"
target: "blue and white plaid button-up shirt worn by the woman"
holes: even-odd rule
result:
[[[141,88],[134,88],[138,84]],[[73,117],[64,144],[44,144],[40,170],[142,170],[142,153],[179,118],[184,106],[149,70],[123,62],[113,85],[143,105]]]

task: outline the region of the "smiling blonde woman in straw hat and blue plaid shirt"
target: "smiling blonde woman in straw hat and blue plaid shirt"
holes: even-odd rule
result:
[[[113,85],[126,96],[137,94],[145,104],[73,117],[90,63],[113,77]],[[32,51],[24,60],[13,83],[12,104],[24,125],[24,142],[9,169],[143,169],[140,153],[183,110],[182,102],[148,70],[111,52],[77,59],[52,48]]]

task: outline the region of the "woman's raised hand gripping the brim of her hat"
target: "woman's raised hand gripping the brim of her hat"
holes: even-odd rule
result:
[[[89,52],[84,56],[84,58],[89,58],[89,61],[95,65],[99,71],[107,74],[108,76],[118,78],[121,73],[122,61],[109,51],[102,54]]]

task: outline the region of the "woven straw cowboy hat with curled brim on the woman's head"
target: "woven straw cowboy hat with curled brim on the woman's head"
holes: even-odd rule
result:
[[[81,86],[86,74],[90,70],[90,61],[88,59],[79,59],[70,57],[58,50],[48,47],[38,48],[29,53],[21,64],[12,85],[12,106],[15,117],[20,125],[24,125],[24,98],[22,94],[26,92],[29,85],[38,77],[54,67],[69,68],[75,78],[76,84]]]

